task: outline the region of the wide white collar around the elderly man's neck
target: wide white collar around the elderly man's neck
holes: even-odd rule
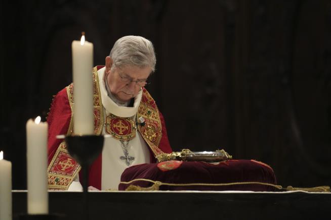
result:
[[[143,90],[140,89],[137,96],[135,97],[135,102],[133,104],[133,107],[118,106],[108,96],[108,92],[107,92],[105,81],[104,81],[105,69],[106,69],[106,67],[103,67],[100,70],[98,70],[98,76],[99,76],[99,85],[100,85],[102,105],[106,109],[106,112],[108,114],[111,113],[115,116],[123,117],[123,118],[129,118],[129,117],[135,116],[138,112],[138,107],[140,105]]]

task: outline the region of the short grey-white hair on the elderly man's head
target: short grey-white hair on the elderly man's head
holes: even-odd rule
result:
[[[140,68],[150,67],[152,72],[155,71],[156,57],[153,44],[141,36],[119,38],[111,49],[109,57],[113,60],[113,67],[130,65]]]

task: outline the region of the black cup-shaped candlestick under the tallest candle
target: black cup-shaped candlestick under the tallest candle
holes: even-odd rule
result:
[[[83,195],[86,219],[89,219],[88,182],[89,167],[102,152],[104,137],[102,135],[68,135],[65,137],[70,155],[80,164],[83,172]]]

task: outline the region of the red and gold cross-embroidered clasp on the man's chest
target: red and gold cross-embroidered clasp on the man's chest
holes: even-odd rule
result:
[[[135,122],[110,114],[106,117],[106,132],[117,140],[129,141],[136,137]]]

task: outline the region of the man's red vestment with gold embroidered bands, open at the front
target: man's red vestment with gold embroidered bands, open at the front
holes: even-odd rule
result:
[[[95,134],[100,134],[103,126],[103,107],[100,96],[97,70],[103,66],[94,68],[94,126]],[[139,105],[138,116],[142,116],[149,126],[139,127],[139,132],[146,141],[150,150],[150,161],[156,162],[155,156],[161,153],[171,153],[172,149],[168,140],[167,129],[162,114],[158,111],[154,99],[145,88]],[[73,86],[70,84],[62,89],[53,99],[50,113],[47,118],[49,124],[48,135],[48,179],[49,189],[67,189],[80,166],[70,157],[63,139],[57,135],[69,135],[72,133],[73,117]],[[148,136],[152,127],[153,136]],[[95,160],[90,167],[89,186],[101,189],[102,155]]]

